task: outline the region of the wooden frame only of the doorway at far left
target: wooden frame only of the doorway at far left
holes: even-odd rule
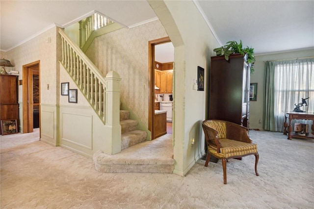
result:
[[[23,65],[23,79],[22,79],[22,85],[23,85],[23,133],[29,133],[32,132],[30,130],[30,125],[28,122],[28,115],[29,115],[29,103],[28,103],[28,91],[29,91],[29,85],[28,80],[30,79],[28,76],[28,71],[30,67],[33,67],[35,65],[38,65],[38,77],[39,77],[39,104],[40,104],[40,60],[28,63],[26,65]],[[40,127],[40,105],[39,105],[39,127]]]

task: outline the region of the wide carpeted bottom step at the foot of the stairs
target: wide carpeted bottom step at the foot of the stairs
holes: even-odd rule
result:
[[[115,155],[97,151],[93,159],[96,170],[103,173],[172,173],[172,134],[136,144]]]

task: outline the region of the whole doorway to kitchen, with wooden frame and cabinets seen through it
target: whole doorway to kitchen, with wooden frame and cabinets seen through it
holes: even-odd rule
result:
[[[172,134],[174,47],[169,37],[149,41],[149,130],[157,138],[156,129]],[[157,112],[165,112],[164,122],[156,120]]]

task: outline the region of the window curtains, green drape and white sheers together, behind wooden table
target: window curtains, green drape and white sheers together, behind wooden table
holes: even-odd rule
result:
[[[314,112],[314,58],[265,63],[264,130],[283,131],[284,112],[292,111],[303,98],[308,98],[308,104],[301,106],[301,110]],[[311,120],[297,122],[313,123]]]

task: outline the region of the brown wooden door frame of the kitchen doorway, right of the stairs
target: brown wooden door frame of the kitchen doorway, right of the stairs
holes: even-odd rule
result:
[[[155,115],[155,45],[171,42],[169,37],[159,38],[148,42],[148,130],[151,131],[151,140],[154,139]]]

